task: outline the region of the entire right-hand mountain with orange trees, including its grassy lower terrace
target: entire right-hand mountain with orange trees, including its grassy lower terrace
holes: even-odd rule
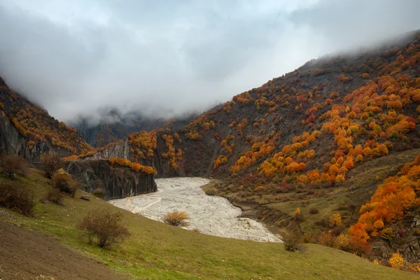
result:
[[[311,60],[179,130],[135,132],[90,156],[151,165],[158,176],[225,179],[207,192],[227,197],[270,229],[298,222],[307,241],[336,246],[346,239],[343,249],[367,254],[371,230],[345,229],[377,187],[420,151],[419,35]],[[417,187],[409,188],[417,197]],[[396,237],[391,223],[412,215],[415,205],[384,219],[377,235],[391,228]],[[419,241],[415,230],[406,232]],[[419,257],[403,246],[388,246],[382,255],[373,250],[373,257],[386,259],[396,249],[410,260]]]

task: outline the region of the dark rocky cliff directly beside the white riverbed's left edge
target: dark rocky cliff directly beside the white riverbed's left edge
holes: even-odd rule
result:
[[[91,193],[102,188],[104,200],[112,200],[157,190],[153,175],[132,172],[126,167],[114,167],[107,160],[76,160],[66,162],[65,169]]]

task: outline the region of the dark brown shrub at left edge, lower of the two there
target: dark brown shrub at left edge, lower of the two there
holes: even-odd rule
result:
[[[25,216],[34,214],[34,195],[20,183],[0,182],[0,205]]]

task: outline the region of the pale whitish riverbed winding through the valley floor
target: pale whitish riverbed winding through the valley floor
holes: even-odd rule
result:
[[[202,178],[156,179],[158,192],[147,195],[110,200],[109,203],[156,221],[172,211],[190,214],[190,230],[197,229],[207,235],[281,242],[261,223],[250,218],[237,218],[241,209],[223,197],[209,196],[200,188],[209,183]]]

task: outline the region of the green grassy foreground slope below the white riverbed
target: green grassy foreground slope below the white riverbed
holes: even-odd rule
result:
[[[1,179],[4,180],[4,179]],[[19,178],[41,197],[47,179],[32,169]],[[37,204],[35,218],[17,216],[10,223],[41,230],[73,250],[92,255],[120,272],[141,279],[418,279],[413,274],[374,265],[333,248],[308,245],[290,253],[282,244],[202,235],[116,209],[92,197],[66,197],[64,206]],[[92,209],[123,211],[132,236],[119,248],[101,249],[78,237],[76,223]]]

